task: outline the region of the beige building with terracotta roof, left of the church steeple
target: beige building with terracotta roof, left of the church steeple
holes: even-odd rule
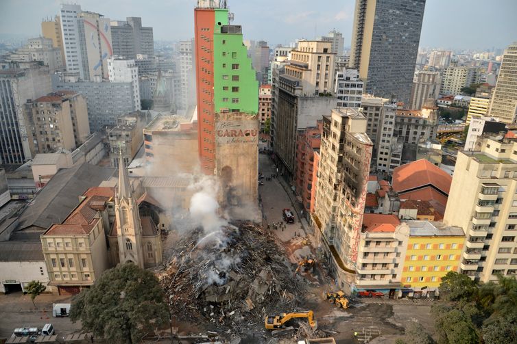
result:
[[[113,208],[113,189],[92,187],[82,202],[62,222],[41,235],[49,285],[58,293],[78,293],[89,288],[108,269],[106,229]]]

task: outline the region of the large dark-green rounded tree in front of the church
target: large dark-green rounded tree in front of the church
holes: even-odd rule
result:
[[[91,289],[74,297],[72,321],[106,343],[139,343],[169,321],[165,296],[156,276],[125,263],[109,269]]]

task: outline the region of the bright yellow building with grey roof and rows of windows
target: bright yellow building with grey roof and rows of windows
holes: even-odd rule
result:
[[[410,235],[402,286],[422,295],[433,293],[443,276],[457,271],[464,247],[464,231],[440,222],[407,221],[407,224]]]

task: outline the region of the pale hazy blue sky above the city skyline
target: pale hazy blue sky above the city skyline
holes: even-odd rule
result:
[[[0,0],[0,34],[38,36],[41,19],[59,12],[62,0]],[[70,1],[69,1],[70,2]],[[196,0],[77,0],[83,10],[111,19],[141,16],[155,40],[193,36]],[[228,0],[244,38],[287,44],[335,28],[350,46],[354,0]],[[517,0],[427,0],[420,47],[505,48],[517,40]]]

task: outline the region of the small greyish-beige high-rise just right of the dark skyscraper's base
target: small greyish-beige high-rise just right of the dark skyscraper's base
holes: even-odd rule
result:
[[[416,72],[413,88],[411,88],[409,109],[420,110],[427,99],[437,99],[441,84],[442,79],[440,79],[439,72],[429,72],[427,70]]]

